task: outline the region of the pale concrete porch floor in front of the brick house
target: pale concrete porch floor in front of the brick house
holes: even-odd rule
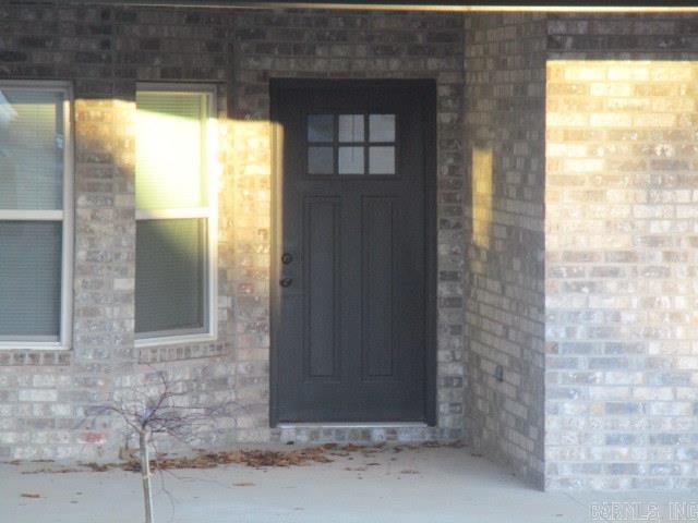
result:
[[[288,469],[225,465],[157,475],[156,521],[582,523],[604,521],[592,518],[592,503],[627,502],[641,511],[647,503],[665,510],[671,502],[697,499],[690,491],[540,492],[471,455],[468,448],[399,453],[388,448],[375,454],[330,458],[332,463]],[[143,521],[139,474],[120,470],[26,474],[47,466],[60,467],[0,465],[0,522]]]

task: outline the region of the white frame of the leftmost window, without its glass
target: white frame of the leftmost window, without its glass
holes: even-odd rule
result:
[[[61,317],[58,341],[0,341],[0,350],[69,350],[73,323],[73,88],[69,82],[0,81],[0,89],[60,92],[63,94],[63,208],[61,210],[0,209],[0,221],[57,221],[62,224],[61,239]]]

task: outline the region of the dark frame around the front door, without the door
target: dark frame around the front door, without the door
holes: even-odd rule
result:
[[[326,89],[350,87],[395,88],[409,87],[424,100],[424,422],[436,425],[436,321],[437,321],[437,219],[436,219],[436,81],[419,80],[328,80],[328,78],[269,78],[269,124],[272,125],[272,231],[269,267],[269,426],[278,425],[278,344],[280,339],[279,260],[282,245],[284,216],[284,139],[279,115],[279,93],[291,88]]]

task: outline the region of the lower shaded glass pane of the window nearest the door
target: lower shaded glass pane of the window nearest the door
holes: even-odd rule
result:
[[[205,218],[136,222],[137,333],[205,330],[206,228]]]

